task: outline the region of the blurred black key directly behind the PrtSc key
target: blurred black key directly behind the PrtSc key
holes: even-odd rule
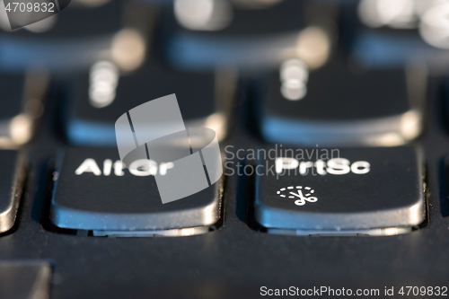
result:
[[[301,145],[402,145],[422,128],[426,72],[356,70],[333,61],[310,71],[299,60],[256,85],[261,135]]]

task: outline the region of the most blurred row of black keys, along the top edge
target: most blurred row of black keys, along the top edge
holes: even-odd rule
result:
[[[74,0],[61,13],[13,32],[2,4],[0,66],[66,71],[111,59],[130,71],[145,59],[154,28],[163,35],[161,48],[172,65],[190,70],[272,68],[289,58],[319,67],[335,48],[338,31],[350,55],[372,67],[417,59],[438,66],[449,48],[444,22],[449,5],[441,1],[404,0],[391,7],[383,0],[157,2]]]

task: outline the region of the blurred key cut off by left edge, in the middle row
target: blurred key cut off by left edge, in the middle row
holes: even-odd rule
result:
[[[0,73],[0,148],[30,141],[43,113],[48,76],[42,73]]]

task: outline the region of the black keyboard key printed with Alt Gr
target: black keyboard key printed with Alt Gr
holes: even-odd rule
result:
[[[170,169],[157,166],[129,171],[119,161],[117,149],[68,149],[57,165],[51,221],[99,236],[207,233],[220,219],[220,181],[163,204],[154,170],[168,173]]]

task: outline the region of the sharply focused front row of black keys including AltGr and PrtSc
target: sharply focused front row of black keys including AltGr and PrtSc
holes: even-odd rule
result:
[[[389,235],[409,233],[426,219],[423,160],[413,147],[276,145],[258,153],[272,151],[274,159],[260,156],[255,167],[251,207],[268,233]],[[0,159],[0,227],[5,232],[17,213],[24,163],[13,151],[0,152]],[[172,170],[149,160],[136,163],[125,169],[109,148],[67,149],[57,161],[51,222],[79,234],[125,237],[207,233],[223,222],[225,177],[163,204],[154,171]]]

